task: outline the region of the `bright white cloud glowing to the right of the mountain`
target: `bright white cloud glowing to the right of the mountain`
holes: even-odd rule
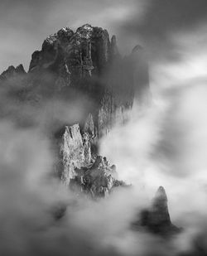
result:
[[[171,220],[184,228],[166,255],[197,254],[198,247],[206,249],[206,77],[200,80],[197,69],[180,77],[174,69],[163,71],[170,85],[156,91],[148,108],[134,104],[131,121],[103,138],[101,153],[148,198],[157,186],[166,188]],[[157,254],[167,247],[153,242]]]

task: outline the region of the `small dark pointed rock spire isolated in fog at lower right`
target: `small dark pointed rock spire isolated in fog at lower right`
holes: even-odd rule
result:
[[[138,219],[139,220],[132,224],[134,229],[141,229],[144,227],[152,233],[164,236],[181,232],[180,228],[177,228],[171,223],[166,191],[162,186],[156,191],[156,196],[152,200],[150,208],[142,210]]]

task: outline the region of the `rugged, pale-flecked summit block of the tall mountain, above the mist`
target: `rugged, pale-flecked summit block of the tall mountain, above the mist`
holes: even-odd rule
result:
[[[114,46],[113,46],[114,47]],[[82,79],[100,74],[110,56],[108,31],[85,24],[77,31],[69,27],[48,36],[41,51],[35,51],[31,58],[29,72],[55,69],[57,86],[76,86]],[[65,78],[68,80],[65,80]],[[64,84],[60,83],[60,78]]]

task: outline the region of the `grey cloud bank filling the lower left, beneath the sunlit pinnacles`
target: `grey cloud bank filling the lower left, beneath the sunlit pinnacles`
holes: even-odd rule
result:
[[[75,197],[51,175],[51,142],[36,128],[20,129],[12,122],[1,122],[0,143],[4,145],[0,153],[0,254],[123,255],[144,251],[144,241],[148,236],[150,240],[150,235],[130,230],[137,210],[146,204],[142,194],[123,189],[106,200]],[[55,220],[53,213],[62,204],[67,205],[65,216]]]

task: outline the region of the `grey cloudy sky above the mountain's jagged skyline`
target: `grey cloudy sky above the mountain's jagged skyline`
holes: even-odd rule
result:
[[[153,59],[176,60],[200,36],[197,48],[207,46],[206,13],[206,0],[0,0],[0,72],[20,63],[27,70],[46,36],[84,23],[116,34],[123,53],[140,43]],[[186,33],[196,36],[178,46]]]

